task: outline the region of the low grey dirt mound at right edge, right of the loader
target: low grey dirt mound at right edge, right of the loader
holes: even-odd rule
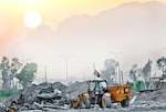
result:
[[[166,100],[166,89],[153,91],[149,93],[141,93],[138,94],[139,101],[159,101]]]

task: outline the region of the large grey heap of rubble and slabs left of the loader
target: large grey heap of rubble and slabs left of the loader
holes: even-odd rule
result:
[[[69,86],[61,82],[32,84],[20,94],[7,100],[3,112],[69,109],[69,100],[77,99],[79,93],[86,92],[87,82],[75,82]]]

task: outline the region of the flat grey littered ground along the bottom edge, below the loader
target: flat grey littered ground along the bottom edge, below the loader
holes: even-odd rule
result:
[[[122,108],[120,104],[113,104],[111,109],[70,109],[70,110],[54,110],[48,112],[165,112],[166,101],[141,101],[128,108]],[[21,111],[21,112],[45,112],[41,110]]]

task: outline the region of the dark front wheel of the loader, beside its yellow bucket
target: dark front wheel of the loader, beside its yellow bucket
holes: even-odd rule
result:
[[[81,104],[82,109],[90,109],[91,108],[90,99],[87,99],[86,96],[82,96],[80,104]]]

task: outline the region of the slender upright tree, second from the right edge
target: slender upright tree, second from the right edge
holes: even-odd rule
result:
[[[143,78],[144,78],[144,81],[145,81],[145,89],[147,89],[146,83],[149,81],[151,72],[152,72],[152,61],[148,60],[148,62],[143,68]]]

